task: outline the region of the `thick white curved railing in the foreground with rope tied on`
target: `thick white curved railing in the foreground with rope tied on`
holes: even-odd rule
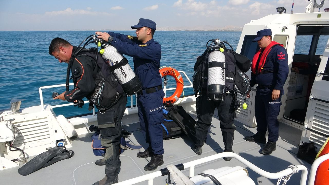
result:
[[[329,154],[327,154],[329,155]],[[220,159],[223,157],[233,157],[235,159],[237,159],[238,161],[240,161],[242,164],[246,165],[248,168],[250,168],[252,171],[266,177],[269,179],[279,179],[281,177],[284,177],[286,175],[289,175],[291,173],[293,173],[293,170],[291,168],[287,168],[285,170],[282,170],[280,172],[276,172],[276,173],[271,173],[271,172],[266,172],[260,168],[258,168],[256,165],[252,164],[251,162],[247,161],[246,159],[244,159],[243,157],[241,157],[240,155],[236,154],[236,153],[232,153],[232,152],[222,152],[222,153],[218,153],[215,155],[211,155],[208,157],[204,157],[201,159],[197,159],[194,161],[190,161],[187,163],[182,164],[184,166],[184,169],[189,168],[189,177],[194,176],[194,168],[196,165],[202,164],[202,163],[206,163],[206,162],[210,162],[216,159]],[[327,156],[328,157],[328,156]],[[320,159],[320,158],[319,158]],[[306,185],[306,180],[307,180],[307,168],[303,165],[296,165],[296,168],[298,171],[301,171],[301,179],[300,179],[300,185]],[[313,168],[313,166],[312,166]],[[315,167],[317,168],[317,167]],[[316,170],[315,170],[316,171]],[[135,177],[129,180],[125,180],[122,182],[118,182],[114,185],[133,185],[139,182],[143,182],[143,181],[148,181],[148,185],[153,185],[153,179],[156,177],[160,177],[160,176],[164,176],[166,174],[162,174],[161,171],[157,171],[157,172],[153,172],[153,173],[149,173],[149,174],[145,174],[139,177]],[[310,184],[310,183],[309,183]]]

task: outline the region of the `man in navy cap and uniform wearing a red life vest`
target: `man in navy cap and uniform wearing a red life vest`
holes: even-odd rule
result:
[[[288,54],[283,44],[272,41],[271,29],[258,31],[253,41],[257,41],[260,47],[252,60],[250,80],[251,87],[258,84],[255,96],[257,133],[243,139],[265,144],[265,133],[268,129],[268,141],[260,153],[269,155],[275,150],[279,138],[277,117],[284,94],[283,86],[289,74]]]

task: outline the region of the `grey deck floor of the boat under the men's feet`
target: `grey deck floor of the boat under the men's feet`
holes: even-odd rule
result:
[[[190,115],[197,119],[195,112],[190,112]],[[128,125],[125,124],[125,121],[128,121],[128,119],[138,121],[136,116],[136,114],[131,115],[130,118],[129,116],[125,116],[122,119],[124,129],[132,132],[131,137],[127,138],[126,141],[129,140],[134,144],[141,144],[144,147],[147,147],[147,145],[145,145],[145,140],[139,131],[139,122],[131,123]],[[238,121],[235,121],[235,124],[237,126],[237,130],[234,133],[235,138],[233,149],[241,157],[247,159],[251,163],[267,172],[279,172],[281,170],[287,169],[289,165],[300,164],[305,165],[309,172],[311,165],[303,160],[296,158],[298,144],[302,133],[301,130],[290,127],[286,124],[280,124],[280,137],[277,142],[276,151],[274,151],[271,155],[266,156],[259,153],[261,147],[266,144],[260,145],[243,140],[243,137],[256,133],[256,128],[248,128]],[[3,170],[0,172],[0,184],[90,185],[102,179],[105,176],[105,166],[96,166],[94,164],[94,162],[97,159],[101,159],[101,157],[93,155],[91,149],[91,135],[91,133],[88,133],[77,136],[75,139],[73,139],[73,147],[69,148],[69,150],[73,150],[75,152],[75,155],[72,158],[59,161],[49,167],[40,169],[37,172],[34,172],[25,177],[18,174],[17,169],[19,167]],[[216,113],[212,121],[212,126],[208,132],[206,144],[202,147],[202,154],[196,155],[190,149],[191,144],[192,142],[187,136],[183,136],[177,139],[164,140],[164,165],[158,167],[157,170],[165,168],[165,166],[169,164],[177,165],[223,152],[222,148],[224,144],[222,141],[222,135],[219,128],[219,120]],[[136,156],[138,152],[138,150],[128,149],[120,155],[121,172],[119,173],[119,181],[151,173],[143,170],[144,166],[149,162],[150,158],[138,158]],[[234,158],[229,162],[220,159],[196,166],[195,174],[210,168],[216,169],[224,166],[246,167]],[[263,176],[260,176],[256,172],[251,171],[249,168],[246,169],[248,170],[249,176],[252,178],[255,184],[270,185],[276,184],[277,182],[277,179],[267,179]],[[189,170],[185,169],[183,170],[183,173],[188,176]],[[155,178],[154,184],[165,184],[165,178],[167,178],[167,176]],[[288,181],[288,184],[299,184],[300,178],[300,173],[293,174],[291,179]],[[138,184],[147,184],[147,181]]]

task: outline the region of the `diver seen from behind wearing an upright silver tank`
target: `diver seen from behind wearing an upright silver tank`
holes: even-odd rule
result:
[[[215,45],[212,46],[212,43]],[[234,118],[235,111],[240,106],[237,93],[246,94],[249,90],[249,79],[243,72],[249,70],[250,60],[235,53],[233,49],[226,49],[224,45],[220,45],[218,39],[212,43],[209,47],[207,43],[206,51],[197,58],[194,66],[193,88],[195,95],[199,96],[196,98],[196,139],[191,149],[198,155],[202,153],[201,147],[212,124],[215,108],[218,110],[224,151],[234,152]],[[232,157],[224,157],[225,161],[231,159]]]

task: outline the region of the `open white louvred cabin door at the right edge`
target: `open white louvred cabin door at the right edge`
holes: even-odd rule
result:
[[[313,141],[319,149],[329,137],[329,40],[325,46],[307,106],[300,142]]]

